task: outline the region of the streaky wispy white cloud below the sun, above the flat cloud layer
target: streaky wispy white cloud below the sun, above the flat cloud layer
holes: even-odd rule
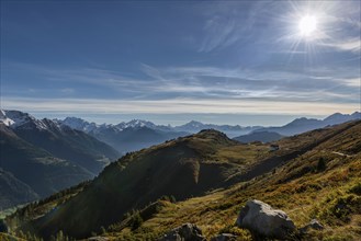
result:
[[[178,96],[352,102],[359,94],[348,82],[340,81],[340,73],[332,76],[323,69],[313,69],[312,74],[215,67],[170,67],[154,71],[163,84],[153,91],[179,93]]]

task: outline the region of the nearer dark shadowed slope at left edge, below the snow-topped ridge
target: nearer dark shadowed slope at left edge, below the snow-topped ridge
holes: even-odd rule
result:
[[[13,190],[20,195],[19,198],[12,199],[13,202],[7,203],[7,205],[1,206],[2,208],[33,200],[37,195],[45,197],[92,177],[92,174],[87,170],[55,158],[49,152],[21,139],[3,124],[0,124],[0,168],[5,171],[3,177],[15,177],[18,181],[13,180],[13,183],[19,185],[11,186],[13,188],[19,186],[25,191]],[[5,174],[7,172],[11,175]],[[31,190],[26,187],[31,187]],[[3,188],[3,198],[12,196],[11,193],[13,192],[8,191],[9,195]],[[31,195],[32,193],[36,193],[36,195]]]

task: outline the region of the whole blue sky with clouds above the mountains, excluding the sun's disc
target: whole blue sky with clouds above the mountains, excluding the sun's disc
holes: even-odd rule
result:
[[[240,125],[352,113],[360,31],[357,0],[1,1],[1,108]]]

